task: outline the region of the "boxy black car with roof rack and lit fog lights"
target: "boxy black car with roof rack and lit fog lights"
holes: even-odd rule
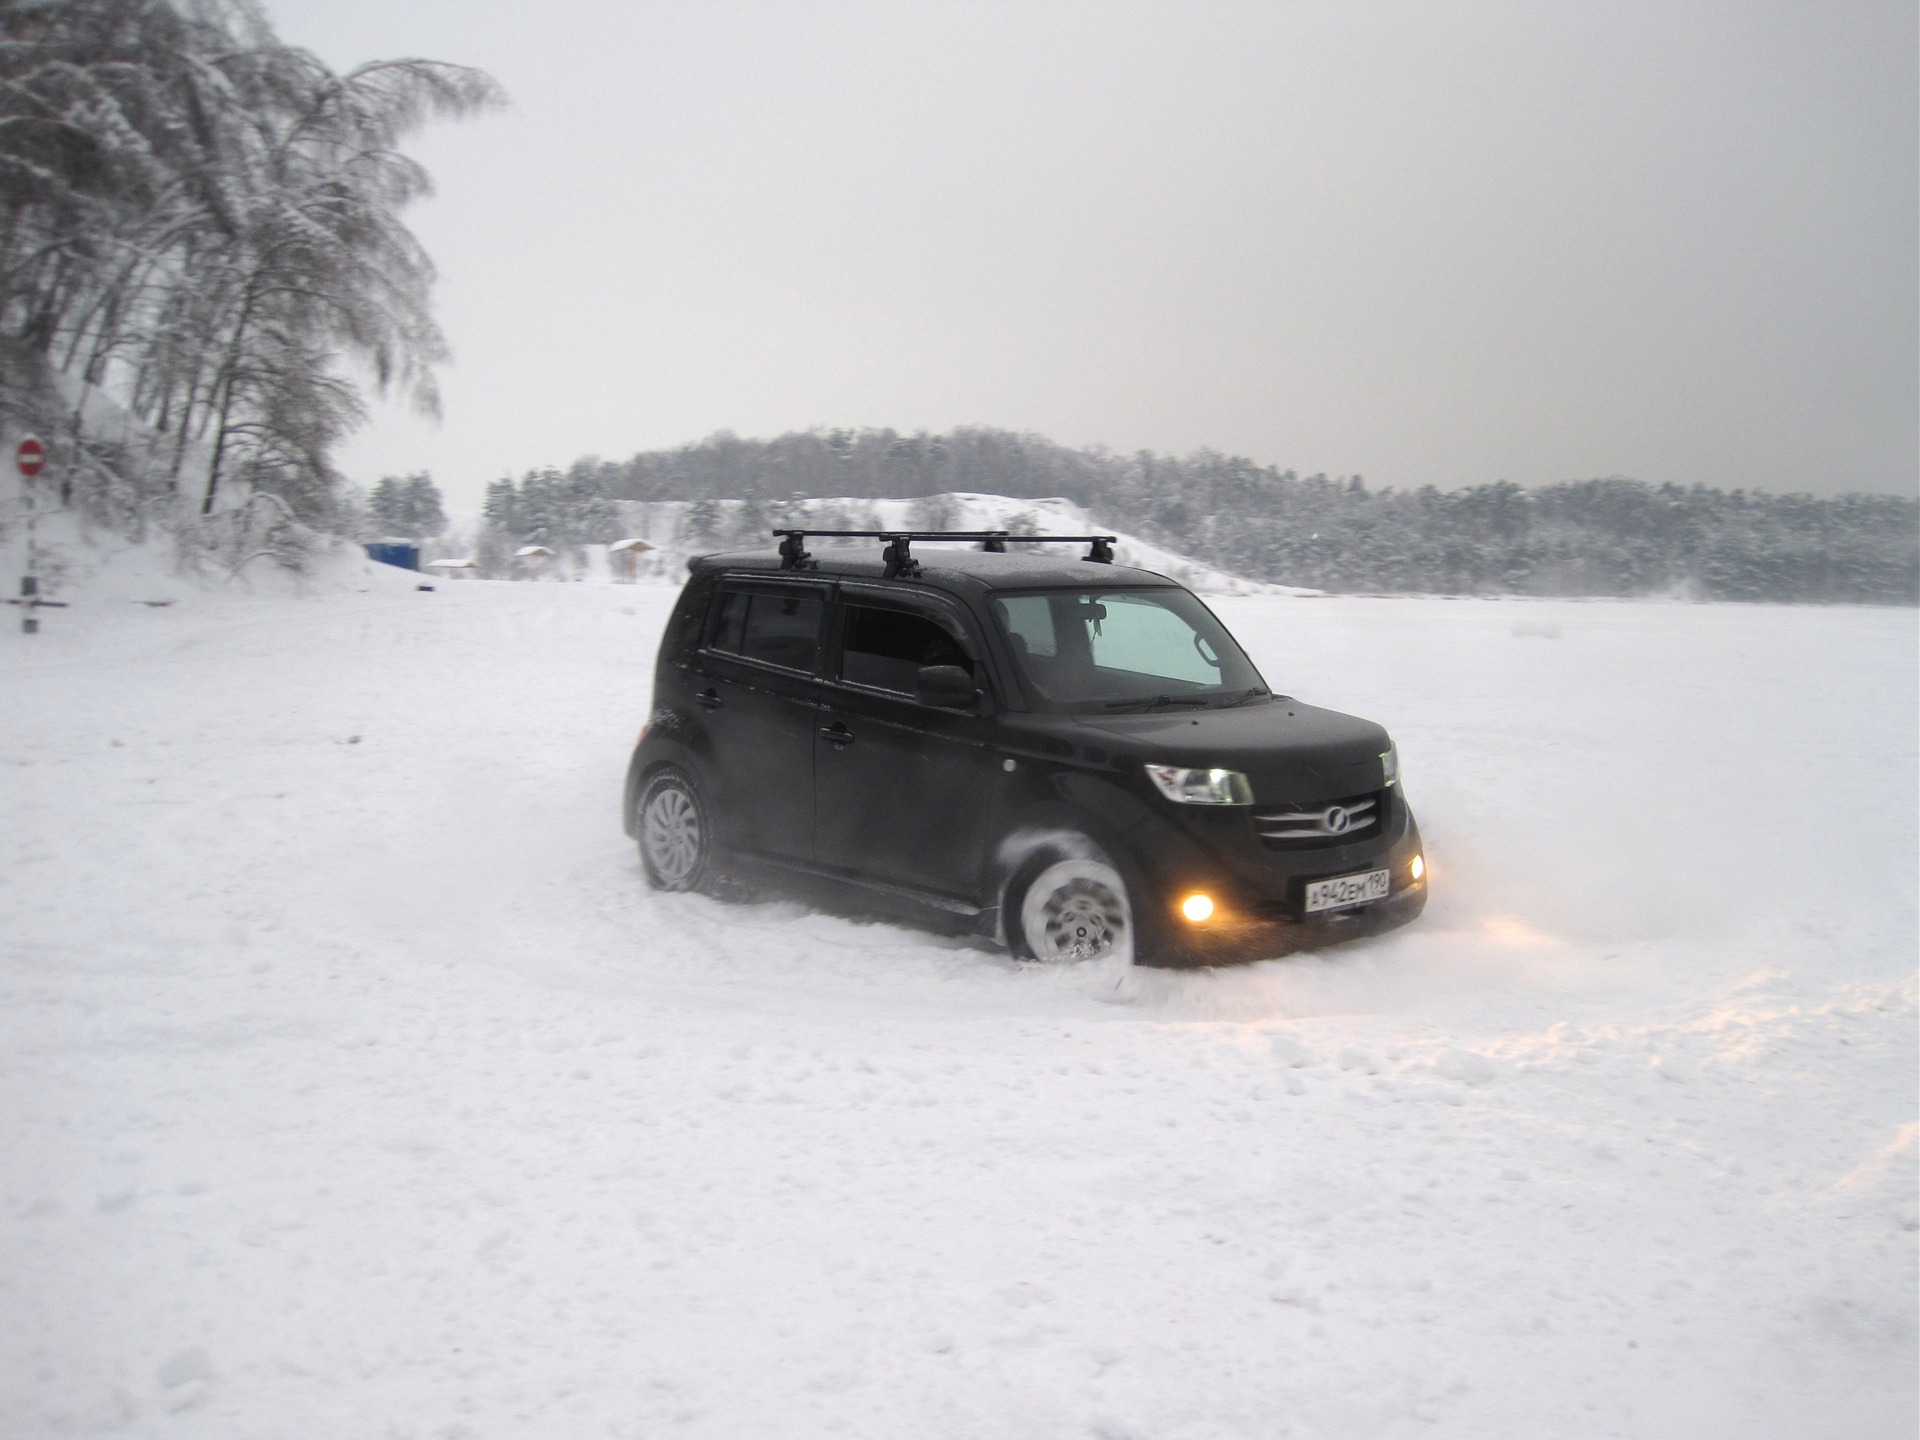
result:
[[[655,887],[804,877],[1018,956],[1150,964],[1427,904],[1386,732],[1269,691],[1112,536],[1060,557],[889,532],[814,559],[780,534],[778,555],[689,561],[666,624],[624,803]]]

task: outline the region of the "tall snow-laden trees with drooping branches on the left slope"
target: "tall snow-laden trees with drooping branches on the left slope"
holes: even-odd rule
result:
[[[336,75],[250,0],[6,0],[0,420],[52,428],[90,388],[163,436],[142,468],[73,407],[96,490],[326,513],[361,382],[438,403],[434,271],[399,219],[428,177],[397,146],[499,98],[426,60]]]

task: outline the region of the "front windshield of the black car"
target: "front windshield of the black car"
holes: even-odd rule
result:
[[[1046,589],[993,611],[1046,708],[1236,705],[1267,687],[1227,628],[1185,589]]]

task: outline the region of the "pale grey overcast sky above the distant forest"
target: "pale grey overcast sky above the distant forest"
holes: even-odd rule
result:
[[[1916,12],[269,0],[422,132],[445,419],[348,472],[993,424],[1375,486],[1920,488]]]

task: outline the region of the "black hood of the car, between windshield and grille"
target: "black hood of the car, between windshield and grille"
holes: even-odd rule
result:
[[[1129,758],[1242,772],[1256,804],[1336,801],[1380,789],[1386,730],[1284,697],[1223,710],[1075,716]]]

